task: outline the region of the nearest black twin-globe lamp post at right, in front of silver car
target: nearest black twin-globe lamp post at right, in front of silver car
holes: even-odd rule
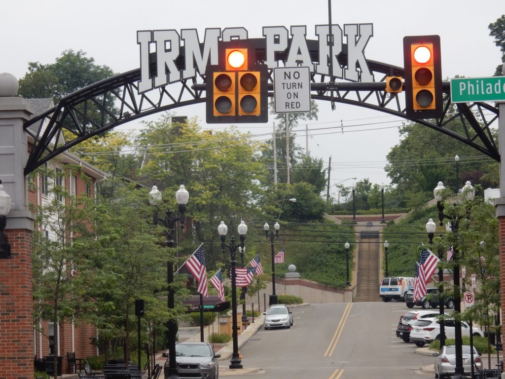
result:
[[[454,311],[457,313],[461,313],[461,290],[460,290],[460,265],[458,262],[458,244],[457,244],[457,232],[458,232],[458,227],[460,223],[461,217],[458,215],[446,215],[444,214],[444,204],[442,203],[442,197],[440,195],[440,192],[445,189],[443,183],[441,181],[438,182],[437,186],[433,190],[433,195],[435,197],[435,200],[437,201],[437,209],[438,209],[438,219],[440,220],[440,226],[443,225],[443,220],[448,219],[449,221],[445,225],[445,229],[448,232],[456,233],[456,242],[453,245],[453,260],[454,260],[454,267],[453,267],[453,278],[454,278]],[[458,190],[457,190],[458,193]],[[467,181],[465,183],[465,186],[462,188],[462,192],[460,194],[460,198],[458,201],[461,200],[461,197],[464,197],[468,200],[472,200],[475,196],[475,189],[473,188],[472,184],[470,181]],[[463,368],[463,340],[461,338],[461,321],[458,320],[458,318],[455,319],[455,330],[454,330],[454,337],[455,337],[455,353],[456,353],[456,367],[455,367],[455,373],[452,377],[454,378],[463,378],[465,376],[465,371]]]

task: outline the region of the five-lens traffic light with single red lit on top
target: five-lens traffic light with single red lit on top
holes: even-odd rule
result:
[[[268,121],[268,70],[249,64],[251,50],[244,41],[220,42],[220,64],[206,70],[207,123]]]

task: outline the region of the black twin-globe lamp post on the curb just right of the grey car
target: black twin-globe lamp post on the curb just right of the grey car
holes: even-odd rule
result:
[[[235,244],[235,236],[231,236],[231,244],[225,244],[226,233],[228,232],[228,226],[221,221],[218,226],[218,233],[221,238],[221,250],[224,254],[224,248],[228,248],[230,251],[230,264],[231,264],[231,312],[232,312],[232,337],[233,337],[233,353],[230,359],[230,368],[242,368],[242,360],[238,355],[238,335],[237,335],[237,260],[236,252],[237,248],[244,249],[245,234],[247,233],[247,225],[242,220],[237,227],[238,235],[240,236],[240,245]]]

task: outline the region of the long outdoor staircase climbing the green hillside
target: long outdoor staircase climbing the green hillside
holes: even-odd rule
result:
[[[379,231],[362,230],[359,242],[357,288],[353,301],[381,301],[379,296]]]

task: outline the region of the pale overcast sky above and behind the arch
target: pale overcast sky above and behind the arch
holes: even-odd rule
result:
[[[423,8],[416,9],[420,5]],[[9,72],[18,79],[25,75],[28,62],[54,63],[68,49],[82,50],[96,64],[107,65],[117,73],[136,69],[137,30],[195,28],[203,40],[205,28],[241,26],[250,38],[259,38],[263,26],[289,29],[306,25],[307,39],[316,39],[315,25],[328,23],[327,0],[18,0],[2,2],[1,11],[0,73]],[[332,2],[334,24],[373,24],[374,35],[365,50],[368,60],[403,67],[403,36],[440,35],[443,78],[493,75],[501,53],[489,36],[488,25],[502,14],[503,0]],[[369,178],[372,183],[389,183],[383,167],[387,153],[398,143],[396,127],[402,120],[338,103],[335,111],[329,102],[318,105],[319,120],[308,124],[309,150],[312,156],[323,158],[325,165],[332,157],[332,184],[355,176],[358,180]],[[175,113],[198,116],[204,128],[225,126],[207,126],[203,105],[178,108]],[[241,128],[260,134],[271,131],[272,123],[270,116],[267,124]],[[345,126],[343,133],[341,124]],[[126,128],[140,127],[135,122],[126,124]],[[324,127],[334,129],[316,130]],[[305,148],[305,132],[298,134],[297,143]]]

